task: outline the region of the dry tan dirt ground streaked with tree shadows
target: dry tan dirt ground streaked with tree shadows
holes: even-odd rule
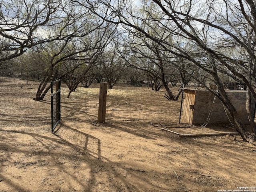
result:
[[[0,77],[1,192],[255,190],[256,147],[239,136],[183,138],[161,130],[179,126],[180,102],[164,92],[114,86],[106,123],[95,126],[99,85],[79,87],[70,99],[62,86],[62,120],[52,134],[50,93],[34,101],[37,88]]]

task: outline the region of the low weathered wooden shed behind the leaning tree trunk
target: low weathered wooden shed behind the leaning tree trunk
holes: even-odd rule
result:
[[[206,122],[209,113],[212,110],[212,115],[208,124],[230,124],[222,102],[218,98],[214,101],[214,95],[208,90],[185,89],[184,92],[186,93],[186,98],[182,106],[183,122],[193,125],[202,125]],[[240,115],[242,123],[249,124],[246,111],[246,91],[227,90],[226,92]],[[251,108],[252,112],[254,112],[254,98],[252,98]]]

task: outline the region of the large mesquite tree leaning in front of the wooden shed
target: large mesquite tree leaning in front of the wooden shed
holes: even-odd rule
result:
[[[178,57],[184,58],[188,64],[186,71],[192,78],[197,76],[190,70],[203,70],[207,78],[213,81],[218,90],[211,90],[218,97],[230,116],[234,128],[244,140],[256,140],[256,127],[250,97],[256,99],[256,4],[252,0],[145,0],[140,5],[143,12],[136,11],[129,1],[119,4],[97,0],[98,7],[106,7],[111,18],[108,20],[122,25],[127,32],[132,28],[140,32],[141,36],[148,38],[162,47],[162,50]],[[94,9],[90,1],[90,10],[102,17],[99,9]],[[156,12],[157,14],[152,14]],[[142,14],[143,13],[143,14]],[[154,25],[152,25],[152,22]],[[140,24],[143,23],[147,26]],[[156,28],[165,31],[163,38],[155,33]],[[151,29],[151,30],[148,30]],[[176,67],[180,67],[174,62]],[[241,123],[234,105],[228,98],[220,73],[236,76],[247,86],[248,119],[251,128]],[[200,82],[203,83],[203,82]]]

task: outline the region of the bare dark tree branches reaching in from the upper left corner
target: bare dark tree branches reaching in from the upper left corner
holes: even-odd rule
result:
[[[28,48],[65,38],[62,30],[54,36],[49,36],[47,31],[48,27],[58,28],[66,21],[67,6],[70,6],[68,2],[52,0],[1,2],[0,62],[20,56]]]

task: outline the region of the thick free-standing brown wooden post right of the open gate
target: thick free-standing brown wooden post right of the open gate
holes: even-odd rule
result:
[[[106,120],[106,103],[107,103],[107,82],[100,82],[100,99],[99,99],[99,111],[98,122],[104,123]]]

